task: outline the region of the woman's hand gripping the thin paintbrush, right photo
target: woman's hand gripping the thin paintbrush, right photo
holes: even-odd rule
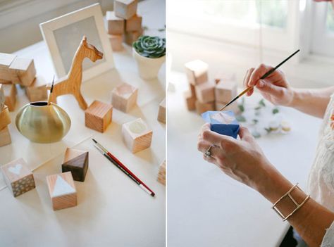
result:
[[[266,79],[260,80],[261,76],[271,68],[273,67],[264,64],[260,64],[257,68],[250,68],[245,75],[244,86],[247,88],[255,85],[264,99],[271,101],[274,105],[290,106],[294,91],[282,71],[275,70]],[[253,91],[254,89],[251,89],[247,96],[251,96]]]

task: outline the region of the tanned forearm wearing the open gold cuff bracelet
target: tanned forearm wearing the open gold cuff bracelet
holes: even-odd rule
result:
[[[258,191],[271,201],[276,203],[278,199],[283,196],[289,189],[291,184],[283,175],[280,174],[274,167],[270,167],[266,172],[266,176],[261,185],[258,186]],[[302,203],[307,197],[303,191],[294,189],[292,197],[296,199],[297,203]],[[288,215],[295,209],[295,205],[290,198],[283,198],[278,204],[278,209],[283,215]],[[302,205],[291,217],[288,222],[294,227],[302,239],[307,242],[309,246],[320,246],[326,229],[334,220],[334,213],[324,208],[319,203],[316,203],[312,198]]]

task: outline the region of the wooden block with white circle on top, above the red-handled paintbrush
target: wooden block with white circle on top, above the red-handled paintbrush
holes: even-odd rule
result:
[[[141,118],[122,125],[123,141],[132,153],[149,148],[152,134],[151,128]]]

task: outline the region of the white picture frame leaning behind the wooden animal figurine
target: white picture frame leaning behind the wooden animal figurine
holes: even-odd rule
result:
[[[94,45],[104,56],[95,63],[89,59],[82,62],[82,81],[115,67],[99,3],[48,20],[39,24],[39,27],[58,78],[68,74],[83,35],[87,37],[87,42]]]

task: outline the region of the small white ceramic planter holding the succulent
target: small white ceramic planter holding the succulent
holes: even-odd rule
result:
[[[161,65],[166,60],[166,55],[161,56],[160,58],[146,58],[137,53],[134,48],[132,48],[132,54],[135,58],[135,61],[137,61],[140,77],[146,80],[156,78],[161,68]]]

